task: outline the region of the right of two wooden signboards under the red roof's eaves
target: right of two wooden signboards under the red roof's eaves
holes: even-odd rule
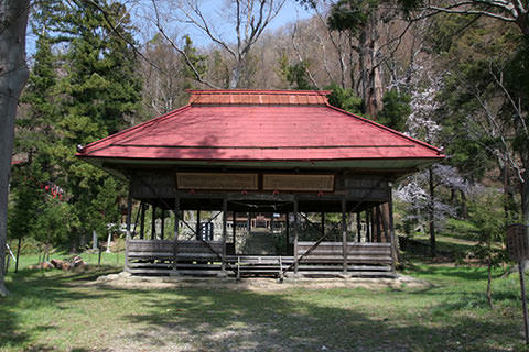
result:
[[[333,191],[334,175],[264,174],[263,190]]]

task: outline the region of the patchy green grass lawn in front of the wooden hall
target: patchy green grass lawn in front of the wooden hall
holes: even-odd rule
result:
[[[495,279],[490,310],[484,268],[410,266],[428,289],[87,285],[117,271],[10,273],[0,351],[527,351],[518,276]]]

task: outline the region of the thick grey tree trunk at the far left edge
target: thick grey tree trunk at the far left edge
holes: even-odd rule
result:
[[[0,263],[6,261],[8,233],[9,174],[13,154],[14,119],[20,94],[28,80],[25,29],[29,0],[0,2]],[[3,271],[0,271],[0,296],[6,296]]]

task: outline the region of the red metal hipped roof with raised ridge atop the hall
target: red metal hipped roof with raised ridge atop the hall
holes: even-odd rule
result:
[[[442,158],[327,103],[322,91],[193,90],[190,105],[86,145],[78,156],[193,161]]]

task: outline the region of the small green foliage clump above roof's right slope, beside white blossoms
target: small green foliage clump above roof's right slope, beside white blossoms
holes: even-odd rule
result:
[[[397,130],[406,130],[406,120],[411,113],[409,95],[397,89],[388,90],[382,98],[384,108],[377,117],[377,122]]]

